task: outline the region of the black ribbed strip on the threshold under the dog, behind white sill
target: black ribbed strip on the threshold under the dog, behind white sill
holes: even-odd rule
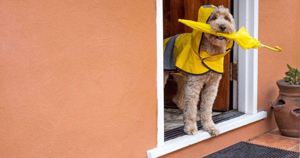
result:
[[[220,114],[213,116],[212,120],[214,121],[215,124],[217,124],[217,123],[241,116],[243,114],[244,113],[236,111],[236,110],[230,110],[230,111],[226,111],[224,113],[220,113]],[[198,131],[200,129],[202,129],[201,121],[197,121],[197,127],[198,127]],[[165,131],[164,132],[164,140],[168,141],[168,140],[171,140],[174,138],[181,137],[183,135],[186,135],[186,134],[183,132],[183,126],[180,126],[180,127]]]

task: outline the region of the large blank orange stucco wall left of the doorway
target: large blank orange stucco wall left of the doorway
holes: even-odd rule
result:
[[[155,0],[2,0],[0,19],[0,157],[156,147]]]

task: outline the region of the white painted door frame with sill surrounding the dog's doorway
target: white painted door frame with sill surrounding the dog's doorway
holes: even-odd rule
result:
[[[237,5],[235,2],[234,5]],[[258,0],[238,1],[238,28],[244,26],[251,36],[258,38]],[[164,142],[164,83],[163,83],[163,2],[156,1],[156,35],[157,35],[157,148],[147,151],[148,157],[157,157],[178,150],[190,144],[210,138],[207,132],[199,131],[197,135],[183,136]],[[266,117],[266,112],[257,113],[257,50],[243,50],[238,45],[238,110],[246,113],[229,120],[230,127],[218,125],[220,131],[227,132]],[[235,59],[236,60],[236,59]],[[239,120],[244,119],[243,122]],[[226,122],[225,122],[226,123]],[[228,122],[229,123],[229,122]],[[228,124],[227,124],[228,125]],[[201,136],[202,135],[202,136]],[[203,135],[206,135],[203,137]],[[176,145],[178,144],[178,145]],[[168,151],[166,151],[168,150]]]

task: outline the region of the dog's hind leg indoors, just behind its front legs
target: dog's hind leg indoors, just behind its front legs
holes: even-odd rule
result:
[[[184,111],[184,90],[186,85],[186,78],[180,75],[173,75],[176,83],[177,83],[177,92],[173,98],[173,102],[176,103],[177,107],[181,112]]]

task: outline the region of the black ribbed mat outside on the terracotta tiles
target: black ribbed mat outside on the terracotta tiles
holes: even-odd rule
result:
[[[266,147],[262,145],[239,142],[203,158],[299,158],[295,151]]]

